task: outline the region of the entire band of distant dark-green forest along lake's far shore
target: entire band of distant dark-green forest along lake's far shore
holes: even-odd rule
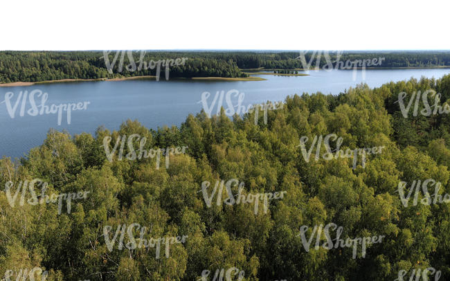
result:
[[[320,52],[320,53],[319,53]],[[448,51],[391,51],[391,52],[305,52],[310,67],[323,67],[329,63],[336,67],[339,61],[372,60],[383,57],[383,63],[370,67],[435,67],[450,66]],[[107,53],[110,62],[117,55],[116,64],[108,71],[103,51],[0,51],[0,83],[39,82],[62,79],[100,79],[156,75],[157,69],[126,69],[130,64],[127,53],[123,56],[122,71],[120,57],[125,51]],[[144,62],[187,57],[184,64],[170,66],[172,78],[194,77],[247,77],[240,69],[305,69],[307,66],[298,57],[299,52],[222,52],[222,51],[133,51],[134,62]],[[327,57],[328,56],[328,57]],[[316,61],[318,64],[316,64]],[[308,65],[309,66],[309,65]],[[161,69],[164,69],[161,66]],[[112,73],[111,73],[112,72]],[[163,72],[163,71],[162,71]]]

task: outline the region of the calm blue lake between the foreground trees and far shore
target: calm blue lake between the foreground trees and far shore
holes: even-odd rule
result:
[[[42,145],[48,129],[66,129],[72,135],[81,132],[94,133],[100,125],[107,129],[118,129],[128,118],[138,119],[147,128],[156,129],[164,125],[181,125],[188,114],[197,114],[203,108],[201,94],[210,93],[208,107],[213,107],[217,91],[237,90],[244,93],[242,105],[248,106],[267,100],[282,101],[295,93],[339,94],[350,87],[365,82],[369,87],[379,87],[390,81],[408,80],[411,77],[440,78],[450,73],[450,69],[383,69],[363,71],[309,71],[309,76],[274,76],[255,75],[266,81],[192,81],[192,80],[125,80],[100,82],[70,82],[55,84],[37,84],[28,87],[0,87],[0,156],[24,156],[29,149]],[[356,74],[354,76],[354,74]],[[6,93],[12,92],[10,105],[16,105],[21,91],[40,90],[48,93],[45,105],[89,102],[85,110],[71,112],[70,125],[67,114],[63,112],[61,124],[58,125],[57,114],[30,116],[26,114],[32,108],[27,98],[17,102],[14,118],[8,111]],[[35,96],[37,105],[40,98]],[[233,105],[237,97],[232,96]],[[217,101],[212,114],[217,111]],[[226,106],[224,98],[223,104]],[[23,108],[22,108],[23,107]],[[79,107],[80,108],[80,107]],[[20,116],[24,109],[24,116]]]

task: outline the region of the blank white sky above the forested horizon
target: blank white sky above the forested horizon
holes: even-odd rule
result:
[[[448,0],[1,0],[0,50],[449,50]]]

